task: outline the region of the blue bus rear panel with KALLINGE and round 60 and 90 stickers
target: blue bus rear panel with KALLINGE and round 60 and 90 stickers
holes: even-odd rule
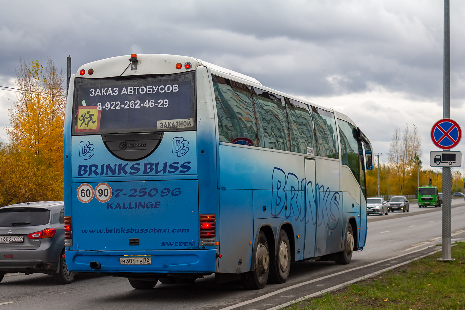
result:
[[[74,250],[199,248],[197,180],[81,185],[73,184]],[[80,198],[89,186],[93,198]]]

